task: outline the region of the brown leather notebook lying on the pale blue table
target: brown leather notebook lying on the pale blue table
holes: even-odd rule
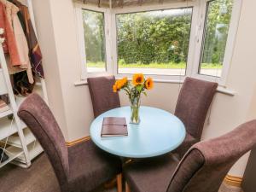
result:
[[[102,137],[128,136],[125,118],[108,117],[103,119]]]

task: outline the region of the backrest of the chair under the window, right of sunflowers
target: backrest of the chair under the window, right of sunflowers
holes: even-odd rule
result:
[[[175,115],[183,121],[189,134],[198,140],[201,140],[207,111],[217,87],[217,83],[186,78],[180,90]]]

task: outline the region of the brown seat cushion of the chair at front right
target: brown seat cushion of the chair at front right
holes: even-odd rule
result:
[[[178,161],[172,154],[140,160],[124,168],[132,192],[166,192]]]

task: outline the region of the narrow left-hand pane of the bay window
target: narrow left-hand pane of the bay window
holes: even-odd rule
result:
[[[84,44],[88,73],[106,71],[104,15],[83,9]]]

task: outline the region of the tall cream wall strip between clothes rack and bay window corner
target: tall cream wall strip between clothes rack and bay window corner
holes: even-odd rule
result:
[[[55,32],[53,29],[51,9],[49,1],[33,0],[36,27],[38,29],[38,41],[42,50],[45,80],[49,97],[49,106],[55,118],[61,126],[61,131],[67,136],[66,115],[64,113],[64,101],[61,86],[60,61],[56,55]]]

